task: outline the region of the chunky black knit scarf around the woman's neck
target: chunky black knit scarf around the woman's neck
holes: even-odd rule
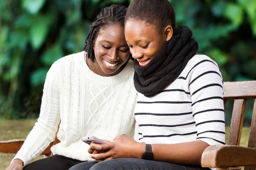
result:
[[[187,26],[175,28],[175,34],[148,65],[140,67],[134,59],[134,86],[144,96],[151,97],[171,84],[198,51],[198,42]]]

